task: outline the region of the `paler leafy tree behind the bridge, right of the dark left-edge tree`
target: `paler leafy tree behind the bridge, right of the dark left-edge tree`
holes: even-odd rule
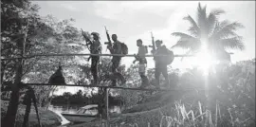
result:
[[[61,22],[52,22],[52,17],[46,17],[50,22],[51,27],[55,29],[54,38],[48,38],[47,42],[41,42],[41,45],[36,45],[37,53],[77,53],[82,50],[82,40],[79,40],[80,33],[76,27],[70,26],[71,20],[64,20]],[[46,21],[46,23],[47,23]],[[36,54],[36,53],[34,53]],[[50,57],[40,58],[37,63],[33,64],[33,67],[24,76],[27,82],[48,82],[50,75],[56,71],[59,63],[62,64],[64,69],[64,78],[66,82],[72,81],[68,68],[73,67],[76,58],[75,57]],[[34,87],[37,90],[37,97],[39,101],[48,101],[48,97],[52,94],[57,87],[56,86],[40,86]],[[44,95],[44,96],[43,96]],[[46,103],[42,103],[46,105]]]

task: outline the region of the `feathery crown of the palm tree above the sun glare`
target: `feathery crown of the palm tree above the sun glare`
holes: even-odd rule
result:
[[[222,9],[210,11],[207,15],[206,7],[201,7],[200,3],[197,8],[197,23],[192,16],[188,15],[184,18],[191,23],[188,29],[190,34],[182,32],[174,32],[172,35],[180,37],[173,47],[182,47],[189,49],[187,54],[198,52],[202,45],[207,45],[207,50],[210,55],[219,60],[228,60],[230,62],[230,54],[226,51],[227,48],[243,50],[245,45],[242,42],[242,37],[235,33],[240,27],[240,23],[230,23],[228,20],[218,21],[218,16],[225,13]]]

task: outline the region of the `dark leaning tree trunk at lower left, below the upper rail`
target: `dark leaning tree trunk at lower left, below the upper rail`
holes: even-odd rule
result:
[[[15,118],[17,114],[17,109],[19,105],[19,84],[21,83],[22,79],[22,64],[21,60],[18,62],[17,65],[17,73],[15,76],[15,81],[11,90],[10,100],[9,100],[9,106],[7,111],[7,116],[4,120],[5,127],[14,127],[15,125]]]

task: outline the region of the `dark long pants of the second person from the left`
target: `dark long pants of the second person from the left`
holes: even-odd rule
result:
[[[125,81],[124,77],[119,72],[117,72],[120,60],[121,60],[120,57],[113,57],[112,59],[111,69],[112,69],[113,78],[111,78],[111,81],[112,81],[112,85],[114,86],[117,86],[117,79],[120,79],[121,81]]]

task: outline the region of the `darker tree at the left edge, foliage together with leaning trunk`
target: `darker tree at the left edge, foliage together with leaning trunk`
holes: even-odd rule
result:
[[[29,49],[37,33],[46,28],[36,13],[37,9],[37,6],[31,6],[27,1],[1,1],[1,58],[21,57],[30,53]],[[29,66],[21,59],[1,61],[1,66],[1,84],[14,82],[4,124],[14,126],[19,102],[19,84]]]

